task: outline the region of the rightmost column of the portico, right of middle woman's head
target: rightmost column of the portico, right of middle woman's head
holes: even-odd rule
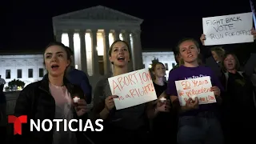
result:
[[[134,70],[139,70],[143,68],[142,61],[142,43],[141,43],[141,30],[136,30],[133,32],[134,38]]]

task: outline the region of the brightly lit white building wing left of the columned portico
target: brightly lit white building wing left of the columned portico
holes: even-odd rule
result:
[[[37,82],[46,74],[42,54],[3,54],[0,55],[0,75],[8,82],[19,79],[26,85]],[[25,85],[25,86],[26,86]]]

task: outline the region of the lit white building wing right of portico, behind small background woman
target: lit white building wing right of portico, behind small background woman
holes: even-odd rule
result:
[[[151,68],[152,61],[162,62],[166,66],[166,78],[168,78],[170,70],[176,65],[174,52],[166,51],[166,52],[143,52],[143,65],[145,68]]]

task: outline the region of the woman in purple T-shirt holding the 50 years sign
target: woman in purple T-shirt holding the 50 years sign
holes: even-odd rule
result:
[[[178,42],[177,50],[184,64],[170,71],[166,93],[170,95],[173,106],[180,110],[178,120],[178,143],[222,144],[222,128],[218,122],[217,112],[217,102],[221,101],[220,89],[222,89],[222,86],[210,68],[199,66],[198,55],[200,54],[200,49],[198,42],[192,38],[183,39],[181,42]],[[195,91],[190,90],[190,87],[186,86],[186,88],[182,88],[182,90],[185,91],[183,94],[182,91],[177,90],[179,87],[175,85],[177,81],[192,79],[194,83],[191,84],[191,87],[192,85],[194,85],[194,87],[203,87],[206,85],[207,80],[205,79],[203,82],[200,82],[198,79],[206,76],[210,76],[210,82],[212,84],[212,87],[207,90],[214,92],[211,99],[217,100],[217,102],[207,102],[208,97],[197,98],[197,94],[199,92],[202,93],[206,89]],[[189,94],[190,92],[192,95]],[[199,101],[204,104],[199,105]]]

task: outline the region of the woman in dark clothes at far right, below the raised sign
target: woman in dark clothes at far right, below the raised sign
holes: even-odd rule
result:
[[[256,108],[254,86],[244,72],[239,71],[239,61],[235,54],[224,56],[226,69],[226,94],[222,97],[222,119],[226,143],[250,143],[254,141],[256,130]]]

